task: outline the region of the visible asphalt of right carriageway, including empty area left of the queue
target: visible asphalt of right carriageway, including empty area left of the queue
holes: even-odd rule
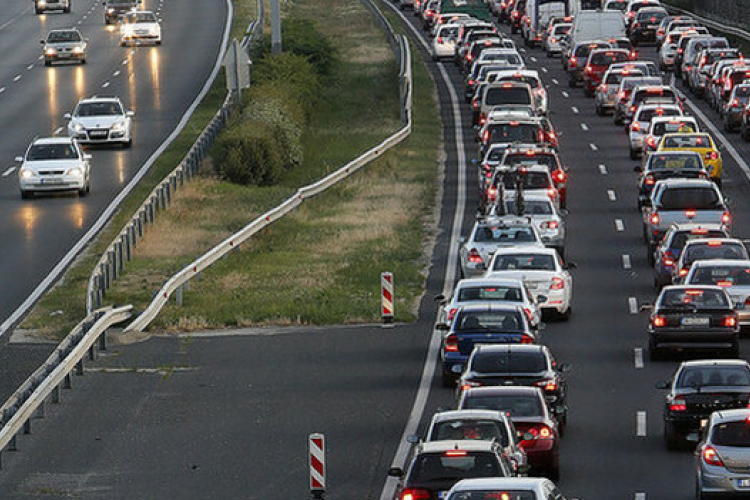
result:
[[[404,19],[413,23],[411,14]],[[411,34],[423,36],[420,29]],[[636,208],[637,162],[629,159],[622,127],[596,116],[582,89],[568,88],[559,59],[535,49],[523,53],[548,86],[571,179],[567,253],[578,263],[574,313],[567,323],[548,325],[542,339],[558,360],[573,364],[559,484],[569,497],[582,499],[692,498],[692,455],[666,451],[663,396],[654,388],[678,360],[652,363],[644,355],[646,319],[637,306],[652,300],[655,290]],[[641,53],[654,56],[652,48]],[[434,361],[432,297],[455,278],[447,250],[455,250],[455,233],[470,228],[476,206],[468,162],[476,155],[475,132],[458,97],[462,77],[451,63],[429,66],[447,159],[444,231],[420,321],[392,330],[235,332],[231,339],[155,339],[123,348],[101,363],[109,371],[85,377],[37,435],[22,441],[22,454],[6,459],[0,497],[33,498],[54,488],[110,499],[304,496],[305,440],[314,431],[329,437],[327,498],[381,497],[404,428],[414,423],[421,430],[432,412],[454,402],[433,370],[421,378],[422,366]],[[717,123],[703,103],[693,103]],[[743,197],[748,180],[741,162],[750,148],[737,135],[726,139],[740,163],[724,152],[724,191],[734,233],[745,237],[750,204]],[[743,340],[743,357],[749,353]],[[417,396],[426,396],[426,404],[415,403]]]

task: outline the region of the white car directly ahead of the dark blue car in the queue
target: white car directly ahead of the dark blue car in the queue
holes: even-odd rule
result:
[[[539,306],[526,285],[516,279],[466,278],[456,283],[450,299],[435,297],[440,302],[438,325],[450,325],[456,312],[467,304],[478,302],[513,303],[523,308],[529,324],[537,328],[541,322]]]

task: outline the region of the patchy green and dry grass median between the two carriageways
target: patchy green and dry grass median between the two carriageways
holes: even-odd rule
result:
[[[315,19],[340,49],[303,134],[301,165],[271,187],[230,184],[205,165],[149,229],[107,302],[145,307],[197,255],[400,127],[395,61],[369,12],[351,0],[298,0],[289,11]],[[432,236],[441,129],[433,83],[416,51],[413,60],[412,136],[215,264],[193,281],[183,307],[172,301],[152,329],[377,321],[385,270],[395,275],[396,319],[414,318]]]

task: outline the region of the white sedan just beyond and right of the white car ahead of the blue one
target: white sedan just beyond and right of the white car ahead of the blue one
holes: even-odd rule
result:
[[[498,248],[486,278],[514,278],[526,283],[542,312],[554,312],[567,320],[573,309],[573,278],[553,248]]]

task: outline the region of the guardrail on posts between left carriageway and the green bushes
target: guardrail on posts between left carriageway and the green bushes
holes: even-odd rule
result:
[[[242,39],[242,46],[246,50],[257,39],[263,28],[263,0],[258,0],[258,12],[258,20],[250,23]],[[86,287],[87,313],[102,306],[106,291],[122,273],[125,262],[132,258],[133,249],[138,240],[143,237],[145,226],[153,224],[156,214],[160,210],[166,210],[171,203],[175,191],[182,187],[186,180],[190,180],[196,175],[201,162],[208,154],[208,150],[227,124],[234,101],[235,97],[232,92],[227,92],[224,103],[195,140],[182,161],[151,191],[99,258],[89,276]]]

